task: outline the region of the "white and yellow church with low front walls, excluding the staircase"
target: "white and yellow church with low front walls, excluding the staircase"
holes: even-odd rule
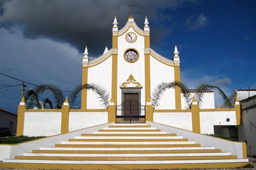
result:
[[[151,100],[157,85],[161,82],[180,82],[178,48],[174,47],[173,60],[150,48],[147,18],[144,30],[136,25],[133,17],[122,29],[118,29],[117,25],[117,18],[114,18],[112,48],[106,48],[102,56],[89,61],[86,47],[82,61],[82,84],[98,84],[106,89],[110,94],[107,108],[103,108],[93,91],[86,89],[82,90],[80,109],[71,109],[65,103],[62,109],[25,109],[21,102],[18,135],[51,136],[107,122],[136,121],[151,121],[197,133],[214,134],[214,126],[240,124],[239,102],[234,108],[214,108],[213,90],[205,91],[200,107],[193,101],[187,108],[179,87],[167,89],[154,108]],[[191,90],[192,94],[196,92]],[[131,101],[131,107],[126,101]],[[136,109],[132,111],[134,107]],[[120,122],[122,119],[125,122]]]

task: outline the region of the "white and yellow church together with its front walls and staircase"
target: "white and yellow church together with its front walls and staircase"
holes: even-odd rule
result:
[[[215,108],[214,91],[205,90],[198,104],[191,90],[190,107],[179,87],[164,91],[160,83],[180,82],[180,54],[173,59],[150,47],[145,17],[140,29],[133,16],[119,29],[114,17],[112,48],[82,60],[82,83],[98,84],[109,93],[103,107],[92,90],[82,90],[81,108],[26,109],[18,105],[17,136],[48,136],[4,148],[2,168],[161,169],[233,168],[248,164],[246,144],[211,137],[218,126],[240,125],[240,104]],[[0,146],[1,148],[2,146]],[[3,149],[2,149],[3,151]]]

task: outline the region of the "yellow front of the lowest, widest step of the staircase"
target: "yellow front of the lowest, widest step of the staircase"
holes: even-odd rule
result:
[[[153,164],[153,165],[75,165],[75,164],[14,164],[2,163],[0,168],[24,169],[176,169],[176,168],[237,168],[248,163],[219,163],[219,164]]]

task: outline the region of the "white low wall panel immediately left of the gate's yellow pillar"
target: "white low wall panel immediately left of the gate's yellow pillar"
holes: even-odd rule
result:
[[[107,112],[70,112],[69,131],[107,123]]]

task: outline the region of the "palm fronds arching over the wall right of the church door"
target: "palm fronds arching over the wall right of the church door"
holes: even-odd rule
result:
[[[181,89],[181,94],[183,94],[183,97],[185,99],[186,108],[189,109],[193,100],[193,96],[191,93],[191,90],[186,86],[186,84],[182,82],[161,82],[157,85],[156,89],[154,89],[152,93],[152,105],[154,108],[156,108],[159,105],[160,97],[163,95],[164,91],[170,88],[176,88],[179,87]],[[212,90],[217,89],[223,100],[225,101],[225,104],[228,105],[228,107],[232,107],[232,104],[230,102],[230,99],[227,97],[227,95],[224,93],[223,90],[221,90],[217,86],[212,86],[209,84],[200,84],[200,86],[196,89],[196,93],[194,94],[197,100],[197,103],[201,107],[201,104],[203,102],[204,98],[204,91],[205,90]]]

